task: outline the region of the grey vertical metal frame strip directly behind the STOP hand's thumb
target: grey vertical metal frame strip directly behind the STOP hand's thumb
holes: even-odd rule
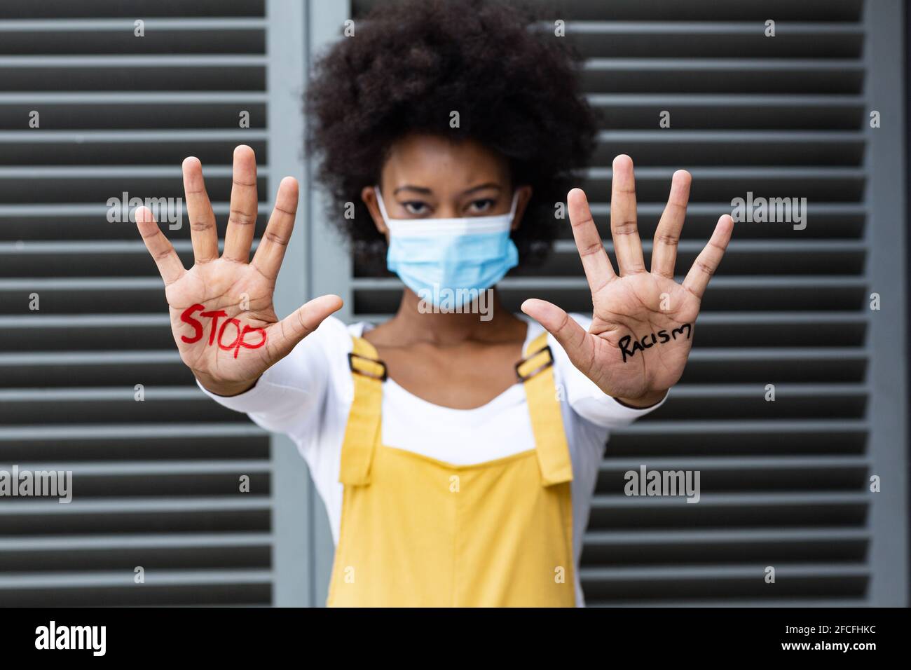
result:
[[[305,21],[304,3],[267,0],[267,200],[270,205],[274,202],[279,182],[285,176],[290,175],[301,184],[297,221],[275,287],[275,311],[280,317],[303,304],[311,290],[305,263],[310,187],[303,160],[301,113],[307,56]],[[271,438],[271,466],[272,604],[312,605],[310,475],[294,443],[284,435]]]

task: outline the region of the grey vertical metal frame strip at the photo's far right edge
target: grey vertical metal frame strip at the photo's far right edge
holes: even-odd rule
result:
[[[882,298],[881,310],[871,314],[867,340],[870,474],[882,479],[881,492],[870,494],[868,600],[892,607],[908,603],[903,19],[900,0],[865,3],[867,277],[869,293]],[[878,129],[869,127],[874,109],[881,114]]]

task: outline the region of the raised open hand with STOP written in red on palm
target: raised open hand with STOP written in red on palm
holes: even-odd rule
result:
[[[148,253],[165,283],[171,331],[180,358],[202,385],[221,396],[252,387],[270,366],[287,356],[342,306],[337,295],[323,295],[279,320],[272,305],[297,211],[297,180],[281,180],[271,218],[250,261],[256,226],[256,157],[253,149],[234,149],[230,216],[224,253],[219,256],[215,214],[195,158],[183,161],[193,267],[186,270],[148,208],[136,223]]]

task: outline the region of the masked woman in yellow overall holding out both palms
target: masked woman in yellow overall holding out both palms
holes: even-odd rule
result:
[[[595,129],[561,39],[504,5],[381,5],[322,59],[310,114],[333,221],[361,263],[385,255],[401,277],[398,313],[346,326],[324,295],[278,318],[298,186],[281,181],[250,260],[256,168],[238,147],[221,256],[199,160],[183,164],[189,271],[137,212],[183,361],[210,397],[297,443],[336,542],[329,604],[580,605],[609,429],[680,378],[731,218],[675,283],[690,190],[676,172],[647,269],[619,156],[619,273],[585,193],[566,196],[592,316],[534,298],[524,316],[504,309],[492,287],[566,225],[555,211]]]

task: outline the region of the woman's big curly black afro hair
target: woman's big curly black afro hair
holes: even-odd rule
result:
[[[578,88],[578,57],[553,27],[534,29],[530,6],[496,0],[384,2],[354,36],[319,59],[307,96],[309,148],[330,192],[329,217],[353,242],[360,270],[377,269],[385,240],[360,193],[387,151],[413,132],[475,139],[533,189],[513,232],[520,262],[547,255],[555,203],[595,145],[596,119]],[[458,110],[459,128],[450,128]],[[353,218],[343,216],[354,203]]]

